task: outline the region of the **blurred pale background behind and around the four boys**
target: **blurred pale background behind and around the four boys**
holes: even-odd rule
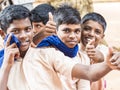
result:
[[[64,2],[78,8],[81,17],[93,11],[102,14],[107,21],[103,43],[120,51],[120,0],[0,0],[0,10],[12,4],[22,4],[31,10],[41,3],[58,7]],[[105,76],[106,90],[120,90],[119,76],[120,71],[112,71]]]

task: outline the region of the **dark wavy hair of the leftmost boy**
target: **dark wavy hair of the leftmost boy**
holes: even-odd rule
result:
[[[30,11],[22,5],[10,5],[0,12],[0,26],[6,32],[13,20],[30,19]]]

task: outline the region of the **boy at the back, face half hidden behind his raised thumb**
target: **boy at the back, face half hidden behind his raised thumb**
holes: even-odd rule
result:
[[[49,4],[40,4],[31,11],[31,21],[35,36],[33,43],[37,45],[43,38],[56,31],[53,16],[55,8]]]

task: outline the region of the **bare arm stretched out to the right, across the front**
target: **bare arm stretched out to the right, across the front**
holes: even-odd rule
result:
[[[111,59],[116,56],[112,56],[112,54],[113,52],[110,49],[107,56],[107,61],[111,61]],[[120,57],[114,59],[116,60],[116,62],[120,62]],[[112,70],[108,65],[107,61],[92,64],[90,66],[76,64],[72,69],[72,77],[96,81]]]

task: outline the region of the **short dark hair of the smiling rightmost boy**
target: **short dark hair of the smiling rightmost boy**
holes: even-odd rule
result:
[[[86,14],[86,15],[82,18],[81,24],[84,24],[84,23],[85,23],[86,21],[88,21],[88,20],[93,20],[93,21],[98,22],[99,24],[102,25],[103,30],[105,31],[106,26],[107,26],[107,23],[106,23],[106,21],[105,21],[105,18],[104,18],[102,15],[100,15],[99,13],[91,12],[91,13]]]

